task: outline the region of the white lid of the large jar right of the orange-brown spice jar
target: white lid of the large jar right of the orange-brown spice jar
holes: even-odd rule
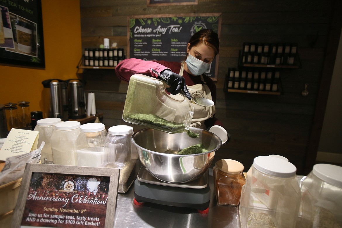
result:
[[[267,175],[288,178],[296,174],[297,168],[292,163],[269,156],[259,156],[254,158],[255,169]]]

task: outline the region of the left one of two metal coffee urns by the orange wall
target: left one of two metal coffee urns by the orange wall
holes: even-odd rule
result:
[[[44,86],[43,99],[45,99],[44,118],[61,118],[68,121],[68,88],[67,83],[61,79],[48,79],[42,81]],[[48,99],[48,100],[47,100]],[[50,103],[50,105],[48,105]]]

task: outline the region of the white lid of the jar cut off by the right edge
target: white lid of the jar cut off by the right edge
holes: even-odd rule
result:
[[[328,184],[342,188],[342,167],[331,164],[316,164],[312,169],[319,179]]]

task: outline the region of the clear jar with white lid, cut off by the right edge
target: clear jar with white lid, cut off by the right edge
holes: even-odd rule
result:
[[[342,167],[316,164],[301,185],[301,227],[342,227]]]

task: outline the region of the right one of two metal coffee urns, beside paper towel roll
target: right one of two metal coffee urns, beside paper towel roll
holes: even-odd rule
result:
[[[79,79],[68,79],[69,119],[87,117],[84,82]]]

